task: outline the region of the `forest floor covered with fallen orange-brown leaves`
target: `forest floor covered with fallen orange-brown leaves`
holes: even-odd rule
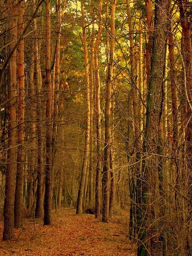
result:
[[[64,209],[53,213],[51,226],[42,219],[25,219],[9,242],[2,241],[0,221],[0,256],[136,256],[127,236],[127,217],[121,211],[106,224],[95,215]]]

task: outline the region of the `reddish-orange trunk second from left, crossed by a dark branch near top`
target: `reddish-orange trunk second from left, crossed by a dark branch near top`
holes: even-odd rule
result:
[[[19,6],[18,33],[22,34],[24,29],[25,2]],[[18,153],[17,153],[17,175],[15,187],[14,224],[19,227],[22,220],[23,202],[23,174],[24,174],[24,113],[25,113],[25,74],[24,74],[24,39],[18,45]]]

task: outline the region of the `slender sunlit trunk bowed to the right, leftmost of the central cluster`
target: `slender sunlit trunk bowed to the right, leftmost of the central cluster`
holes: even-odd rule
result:
[[[84,14],[84,2],[81,1],[81,15],[82,15],[82,29],[83,29],[83,47],[84,47],[84,60],[85,60],[85,84],[86,84],[86,134],[85,134],[85,153],[82,166],[81,180],[77,198],[77,209],[76,214],[82,214],[83,211],[83,197],[85,188],[85,179],[87,174],[87,168],[90,156],[90,81],[89,81],[89,60],[88,60],[88,49],[87,49],[87,38],[86,38],[86,26],[85,26],[85,14]]]

